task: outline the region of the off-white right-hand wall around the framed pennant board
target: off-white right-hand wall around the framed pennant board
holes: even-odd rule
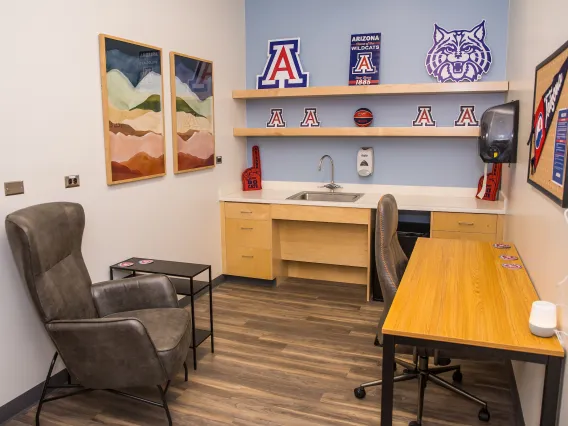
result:
[[[568,275],[568,224],[562,209],[527,182],[535,67],[568,40],[566,0],[511,0],[509,15],[509,99],[520,99],[519,158],[510,170],[504,168],[504,187],[510,216],[506,238],[513,241],[527,266],[540,297],[562,303],[556,284]],[[549,137],[547,143],[552,143]],[[566,297],[566,296],[565,296]],[[564,310],[562,328],[568,330]],[[544,367],[516,363],[515,377],[528,426],[539,424]],[[568,369],[564,376],[561,425],[568,425]]]

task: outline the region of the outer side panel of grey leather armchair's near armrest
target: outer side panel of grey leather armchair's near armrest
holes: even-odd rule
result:
[[[167,373],[146,327],[135,318],[45,325],[71,375],[91,389],[158,385]]]

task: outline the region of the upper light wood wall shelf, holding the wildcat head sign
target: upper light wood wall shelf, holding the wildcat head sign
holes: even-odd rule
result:
[[[325,96],[441,95],[504,93],[508,81],[479,83],[379,84],[377,86],[329,86],[301,89],[234,90],[233,99],[308,98]]]

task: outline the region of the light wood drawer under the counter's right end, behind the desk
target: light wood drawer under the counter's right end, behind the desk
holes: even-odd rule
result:
[[[432,238],[501,241],[503,216],[482,213],[432,212]]]

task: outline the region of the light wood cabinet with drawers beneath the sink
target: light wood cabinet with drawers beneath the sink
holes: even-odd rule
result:
[[[223,271],[370,285],[371,210],[221,203]]]

